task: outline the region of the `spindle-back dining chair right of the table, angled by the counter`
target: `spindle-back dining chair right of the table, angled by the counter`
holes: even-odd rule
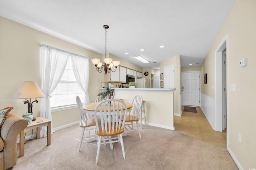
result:
[[[142,106],[142,96],[138,94],[132,100],[132,109],[127,114],[127,117],[125,120],[125,127],[124,127],[125,132],[138,131],[140,139],[141,139],[141,135],[140,135],[140,128],[138,125],[138,121],[139,121],[138,115],[140,113],[141,106]],[[136,122],[137,129],[134,129],[133,127],[134,122]]]

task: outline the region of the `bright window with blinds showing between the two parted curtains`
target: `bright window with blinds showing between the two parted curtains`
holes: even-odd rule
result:
[[[84,97],[83,92],[78,86],[74,71],[72,68],[71,58],[68,59],[65,71],[58,83],[58,86],[52,92],[50,96],[50,107],[53,111],[63,110],[64,108],[76,107],[76,96],[79,96],[83,103]]]

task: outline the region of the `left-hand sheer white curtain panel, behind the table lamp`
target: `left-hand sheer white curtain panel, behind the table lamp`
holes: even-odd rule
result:
[[[52,120],[52,113],[50,108],[50,94],[58,85],[70,53],[50,47],[48,45],[41,45],[41,78],[42,91],[46,94],[42,98],[42,106],[40,116]],[[40,137],[46,137],[47,128],[42,127],[40,130]],[[51,135],[54,133],[51,125]]]

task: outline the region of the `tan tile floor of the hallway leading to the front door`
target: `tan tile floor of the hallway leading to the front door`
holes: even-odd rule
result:
[[[181,117],[174,116],[175,131],[226,149],[226,130],[214,131],[200,107],[196,107],[197,113],[185,112],[183,109],[184,106]]]

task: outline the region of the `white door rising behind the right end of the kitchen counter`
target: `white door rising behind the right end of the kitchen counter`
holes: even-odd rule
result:
[[[164,67],[164,88],[174,88],[174,65]]]

